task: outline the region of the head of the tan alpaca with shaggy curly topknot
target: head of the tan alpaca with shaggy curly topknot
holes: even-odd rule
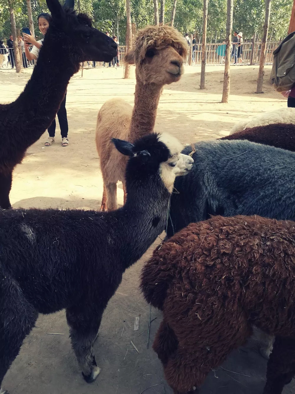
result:
[[[144,84],[177,82],[183,74],[188,44],[173,27],[147,26],[137,32],[125,62],[136,65],[136,75]]]

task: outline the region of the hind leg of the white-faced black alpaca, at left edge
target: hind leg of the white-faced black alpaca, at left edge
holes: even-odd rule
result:
[[[5,393],[6,390],[1,390],[2,380],[38,314],[9,275],[0,275],[0,281],[0,393]]]

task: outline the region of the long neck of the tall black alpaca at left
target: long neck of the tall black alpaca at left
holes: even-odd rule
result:
[[[13,133],[14,143],[19,143],[23,149],[37,141],[51,125],[68,82],[77,72],[77,66],[70,60],[74,58],[74,48],[65,34],[60,36],[56,40],[56,34],[48,30],[30,80],[18,99],[6,108],[7,114],[13,108],[18,114],[10,118],[7,130]]]

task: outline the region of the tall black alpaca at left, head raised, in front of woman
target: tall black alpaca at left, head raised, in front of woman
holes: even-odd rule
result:
[[[68,0],[67,6],[74,0]],[[44,37],[37,64],[17,100],[0,105],[0,206],[10,208],[12,172],[26,150],[50,126],[73,74],[85,60],[109,61],[116,43],[94,29],[85,14],[46,0],[52,22]],[[74,5],[72,4],[72,7]]]

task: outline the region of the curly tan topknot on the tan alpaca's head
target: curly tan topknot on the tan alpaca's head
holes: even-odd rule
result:
[[[188,44],[181,33],[168,25],[146,26],[138,30],[134,42],[134,59],[136,64],[142,63],[149,48],[157,50],[172,46],[182,57],[188,55]]]

